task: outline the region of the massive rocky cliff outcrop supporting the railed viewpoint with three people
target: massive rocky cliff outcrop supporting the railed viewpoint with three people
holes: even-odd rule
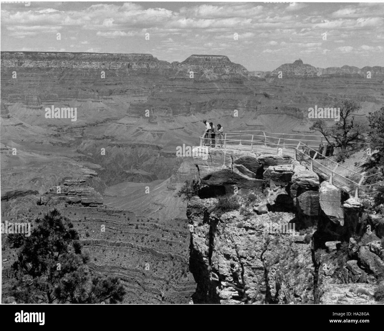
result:
[[[199,175],[200,166],[205,167],[200,177],[205,190],[233,180],[230,171],[225,179],[226,167],[242,169],[243,181],[250,176],[262,178],[263,190],[249,186],[239,191],[233,196],[238,210],[224,213],[222,203],[227,200],[215,195],[195,196],[188,202],[195,303],[373,301],[374,288],[384,273],[384,250],[366,225],[376,231],[380,220],[367,215],[359,199],[345,200],[340,189],[328,181],[320,183],[318,174],[295,161],[273,165],[280,159],[271,154],[272,164],[265,165],[250,151],[226,149],[226,163],[224,151],[209,153],[207,160],[194,158]],[[238,160],[246,162],[239,165]],[[255,172],[248,169],[251,166]],[[295,225],[296,234],[283,231],[290,224]],[[280,227],[276,235],[273,229]]]

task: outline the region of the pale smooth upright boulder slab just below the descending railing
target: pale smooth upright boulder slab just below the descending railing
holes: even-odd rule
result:
[[[343,226],[344,213],[341,208],[341,190],[330,184],[322,182],[319,189],[319,204],[321,210],[333,223]]]

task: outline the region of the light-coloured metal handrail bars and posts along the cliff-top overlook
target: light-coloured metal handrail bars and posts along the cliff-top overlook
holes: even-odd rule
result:
[[[310,158],[311,159],[311,169],[313,170],[314,168],[316,168],[319,172],[324,172],[325,170],[325,174],[326,175],[329,175],[329,180],[330,182],[334,181],[334,182],[338,182],[338,184],[343,187],[344,189],[346,189],[346,185],[348,187],[349,190],[352,190],[356,187],[356,197],[358,195],[358,191],[359,189],[364,189],[364,191],[369,191],[369,193],[374,193],[376,192],[376,187],[377,185],[382,185],[384,184],[384,180],[383,181],[380,181],[380,182],[376,182],[374,184],[369,184],[369,185],[362,185],[362,182],[364,181],[364,179],[368,178],[368,177],[372,177],[374,175],[378,175],[378,174],[382,174],[381,172],[377,172],[376,174],[372,174],[372,175],[363,175],[363,174],[359,174],[358,172],[354,171],[354,170],[351,170],[351,169],[348,169],[347,167],[344,167],[343,165],[339,164],[338,162],[335,162],[331,159],[329,159],[328,157],[326,156],[323,156],[324,159],[327,159],[329,161],[331,161],[332,163],[336,164],[335,167],[333,169],[330,169],[328,168],[326,165],[324,164],[321,164],[320,162],[316,161],[316,156],[318,154],[318,151],[314,150],[313,148],[311,147],[316,147],[316,146],[308,146],[306,144],[303,144],[300,140],[296,140],[296,139],[291,139],[291,138],[278,138],[278,137],[271,137],[271,136],[266,136],[265,133],[268,133],[268,134],[275,134],[275,133],[271,133],[271,132],[266,132],[266,131],[257,131],[257,132],[262,132],[263,135],[257,135],[257,134],[237,134],[236,132],[249,132],[249,131],[231,131],[231,132],[226,132],[225,133],[225,136],[223,138],[224,140],[224,148],[227,147],[227,142],[239,142],[239,146],[250,146],[251,149],[253,149],[253,145],[256,144],[256,143],[261,143],[261,144],[264,144],[266,147],[267,147],[267,144],[268,145],[272,145],[272,146],[277,146],[277,147],[284,147],[284,148],[292,148],[295,150],[295,158],[296,160],[297,159],[297,152],[300,152],[300,154],[302,154],[303,156],[305,156],[306,158]],[[284,135],[284,134],[279,134],[277,133],[276,135]],[[286,134],[286,135],[290,135],[290,134]],[[298,134],[292,134],[292,135],[295,135],[295,136],[299,136]],[[228,139],[228,136],[229,137],[236,137],[236,136],[239,136],[240,139]],[[245,136],[245,139],[244,139],[244,136]],[[247,140],[247,136],[250,136],[252,137],[252,139],[250,140]],[[300,136],[310,136],[310,135],[300,135]],[[260,139],[260,140],[254,140],[254,137],[261,137],[263,139]],[[321,136],[316,136],[316,137],[321,137]],[[270,141],[267,141],[267,138],[271,138],[271,139],[279,139],[278,143],[274,143],[274,142],[270,142]],[[203,141],[204,139],[209,139],[209,138],[204,138],[204,135],[200,137],[200,146],[203,146]],[[283,140],[283,144],[280,143],[280,141]],[[285,140],[287,141],[294,141],[295,144],[285,144]],[[305,141],[309,141],[309,140],[305,140]],[[250,142],[250,145],[247,145],[247,142]],[[316,142],[320,142],[320,141],[316,141]],[[297,144],[296,144],[297,143]],[[313,154],[313,157],[311,157],[310,155],[306,154],[305,152],[303,151],[300,151],[299,147],[300,145],[303,145],[305,146],[308,150],[311,150],[314,152]],[[277,149],[278,151],[278,149]],[[315,164],[315,165],[314,165]],[[346,170],[348,170],[349,172],[353,172],[354,174],[357,174],[359,176],[361,176],[359,182],[355,182],[354,180],[352,179],[349,179],[341,174],[337,174],[335,172],[335,170],[338,168],[338,167],[342,167]],[[323,170],[322,170],[323,169]],[[325,169],[325,170],[324,170]],[[328,172],[328,173],[327,173]],[[340,182],[340,180],[336,180],[336,178],[342,178],[344,180],[344,183],[343,182]],[[345,181],[347,183],[350,183],[349,185],[345,183]]]

